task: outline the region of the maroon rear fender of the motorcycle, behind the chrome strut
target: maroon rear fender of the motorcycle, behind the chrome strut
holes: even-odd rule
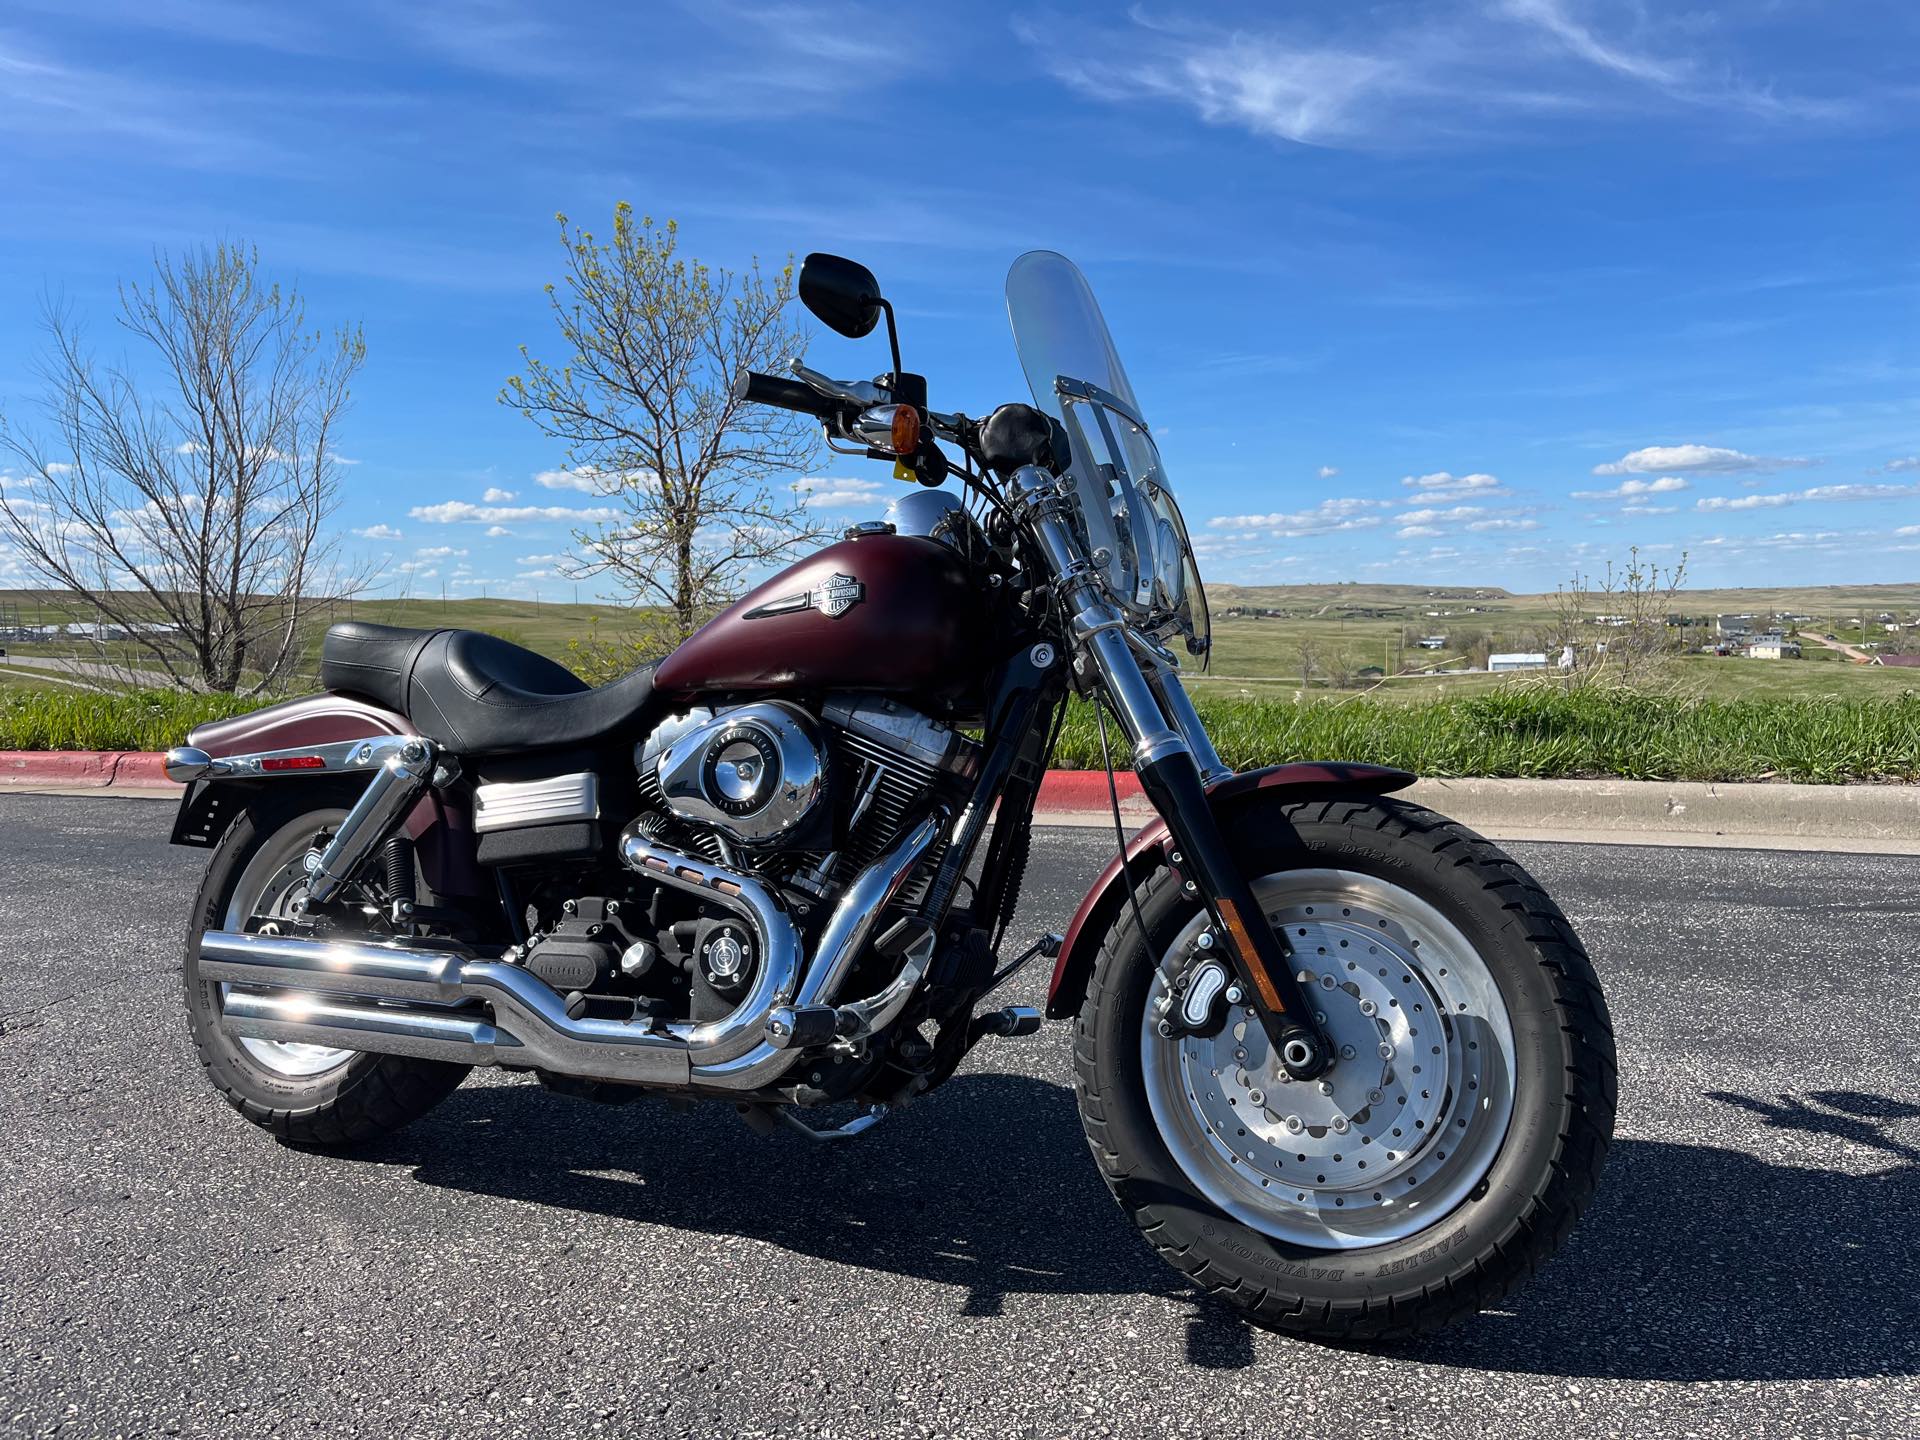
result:
[[[349,695],[305,695],[263,710],[213,720],[196,728],[186,743],[215,760],[259,751],[292,751],[301,745],[334,745],[371,735],[407,735],[403,714]],[[336,778],[334,778],[336,780]],[[286,785],[328,783],[315,778],[276,780],[196,780],[180,797],[173,818],[173,845],[217,845],[227,826],[267,793]],[[472,806],[465,795],[428,791],[407,814],[403,826],[420,858],[420,872],[436,895],[480,895],[480,866],[474,860]]]

